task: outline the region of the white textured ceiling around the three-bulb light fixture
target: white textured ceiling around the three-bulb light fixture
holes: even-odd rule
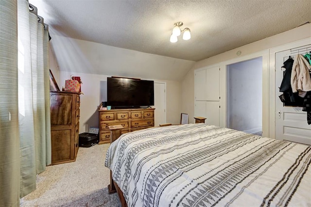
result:
[[[29,0],[63,35],[199,61],[311,22],[311,0]],[[169,41],[182,21],[191,39]]]

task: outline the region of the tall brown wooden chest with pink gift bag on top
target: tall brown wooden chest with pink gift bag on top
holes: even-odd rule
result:
[[[52,165],[73,162],[79,149],[80,94],[50,92]]]

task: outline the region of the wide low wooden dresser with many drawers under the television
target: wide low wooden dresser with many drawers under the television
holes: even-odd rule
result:
[[[100,106],[101,108],[101,106]],[[154,108],[99,109],[100,140],[98,144],[110,143],[109,126],[122,125],[122,134],[155,126]]]

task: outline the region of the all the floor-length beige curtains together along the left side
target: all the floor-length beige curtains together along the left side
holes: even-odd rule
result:
[[[1,1],[0,28],[0,207],[6,207],[19,206],[51,164],[49,33],[27,0]]]

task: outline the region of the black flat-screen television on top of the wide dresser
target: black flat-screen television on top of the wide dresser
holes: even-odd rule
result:
[[[107,78],[107,105],[116,108],[154,104],[154,81]]]

